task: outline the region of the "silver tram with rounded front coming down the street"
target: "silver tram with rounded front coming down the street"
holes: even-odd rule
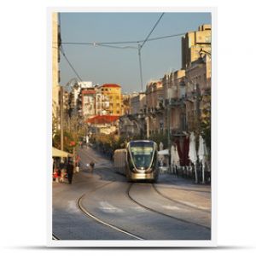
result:
[[[114,151],[113,160],[117,172],[124,174],[129,182],[158,179],[157,144],[153,141],[131,141],[125,149]]]

